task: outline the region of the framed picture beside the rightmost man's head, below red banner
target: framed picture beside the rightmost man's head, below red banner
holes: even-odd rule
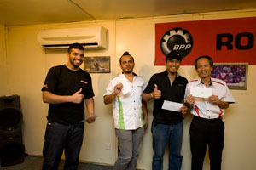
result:
[[[230,89],[247,89],[247,63],[214,63],[212,77],[223,80]]]

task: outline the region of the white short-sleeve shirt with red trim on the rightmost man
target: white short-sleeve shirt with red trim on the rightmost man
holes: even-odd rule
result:
[[[190,94],[190,89],[193,86],[201,88],[212,88],[212,95],[217,95],[218,99],[228,103],[234,103],[235,99],[230,93],[230,89],[226,83],[222,80],[212,78],[210,86],[206,87],[200,78],[192,80],[187,84],[185,99]],[[191,110],[191,114],[202,118],[213,119],[224,115],[224,109],[221,109],[218,105],[212,104],[208,99],[195,97],[195,104]]]

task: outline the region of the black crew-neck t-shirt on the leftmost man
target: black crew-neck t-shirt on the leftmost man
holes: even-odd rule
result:
[[[80,88],[85,99],[94,96],[90,74],[82,69],[72,71],[66,65],[52,67],[44,81],[42,91],[57,95],[73,95]],[[84,101],[80,104],[71,102],[50,104],[47,119],[50,122],[73,124],[84,120]]]

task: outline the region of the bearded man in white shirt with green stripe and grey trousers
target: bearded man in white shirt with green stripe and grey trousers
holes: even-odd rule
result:
[[[131,54],[125,52],[119,63],[123,74],[109,82],[103,97],[106,105],[113,102],[114,128],[119,140],[119,157],[113,169],[135,170],[148,127],[147,104],[142,100],[146,84],[133,73],[135,64]]]

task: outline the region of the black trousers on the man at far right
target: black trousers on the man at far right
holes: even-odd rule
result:
[[[220,118],[214,121],[200,119],[195,117],[189,130],[192,170],[202,169],[207,145],[211,170],[220,170],[224,148],[224,122]]]

